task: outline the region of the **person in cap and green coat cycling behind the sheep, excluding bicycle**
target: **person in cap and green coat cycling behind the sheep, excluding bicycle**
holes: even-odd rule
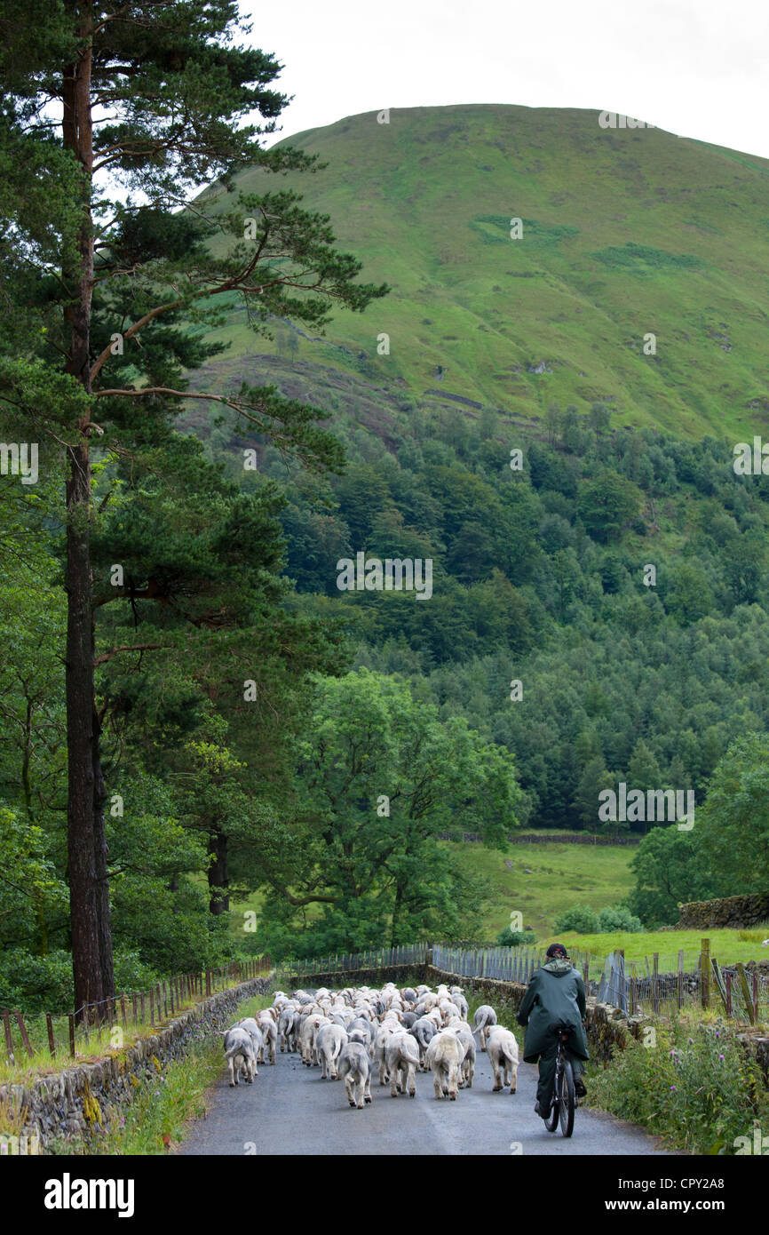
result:
[[[548,960],[532,976],[521,1000],[516,1020],[526,1026],[523,1060],[539,1061],[539,1083],[534,1113],[547,1119],[553,1103],[555,1056],[558,1053],[557,1028],[569,1028],[568,1049],[574,1057],[574,1091],[584,1098],[588,1091],[581,1079],[583,1060],[589,1060],[585,1036],[585,983],[579,969],[569,960],[563,944],[551,944]]]

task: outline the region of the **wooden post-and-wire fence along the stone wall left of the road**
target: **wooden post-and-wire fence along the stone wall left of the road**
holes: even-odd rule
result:
[[[17,1009],[0,1010],[6,1061],[25,1057],[43,1062],[46,1056],[75,1058],[96,1047],[118,1049],[141,1028],[160,1028],[179,1011],[201,999],[258,978],[270,969],[268,956],[253,961],[232,961],[215,969],[180,973],[156,983],[147,990],[127,990],[110,999],[83,1004],[72,1013],[22,1014]],[[42,1056],[42,1058],[41,1058]]]

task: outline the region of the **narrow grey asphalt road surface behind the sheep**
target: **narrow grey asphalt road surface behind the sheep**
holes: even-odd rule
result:
[[[299,1055],[278,1053],[259,1065],[253,1084],[231,1089],[226,1072],[209,1097],[207,1118],[199,1119],[178,1150],[184,1155],[636,1155],[664,1153],[642,1130],[579,1108],[574,1135],[548,1132],[534,1115],[537,1068],[522,1063],[518,1089],[493,1093],[491,1066],[478,1052],[472,1089],[455,1102],[437,1102],[432,1076],[417,1072],[416,1097],[390,1097],[390,1087],[372,1081],[370,1105],[351,1108],[342,1081],[322,1081]],[[588,1084],[589,1078],[588,1078]]]

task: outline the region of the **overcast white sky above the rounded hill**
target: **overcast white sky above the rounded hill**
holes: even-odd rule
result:
[[[241,11],[295,96],[280,137],[381,107],[515,103],[618,111],[769,158],[767,0],[241,0]]]

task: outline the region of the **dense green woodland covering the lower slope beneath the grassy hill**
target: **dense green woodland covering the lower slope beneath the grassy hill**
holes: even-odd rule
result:
[[[711,803],[765,766],[765,740],[744,735],[767,727],[769,485],[737,477],[726,442],[612,432],[600,406],[553,408],[549,422],[546,435],[406,409],[394,448],[342,433],[347,471],[325,477],[286,477],[256,438],[260,469],[243,472],[231,440],[215,445],[218,424],[201,436],[223,472],[174,435],[174,508],[106,458],[95,467],[96,493],[112,495],[94,541],[105,593],[116,543],[133,578],[159,585],[142,553],[157,552],[160,519],[185,605],[209,611],[218,588],[232,603],[238,587],[254,605],[260,555],[259,609],[226,638],[215,624],[190,635],[164,611],[175,605],[143,597],[122,624],[99,619],[100,646],[148,646],[105,661],[100,678],[120,982],[228,955],[228,895],[246,889],[263,890],[264,911],[243,950],[484,937],[483,883],[438,840],[463,830],[504,844],[516,823],[651,826],[636,858],[646,890],[631,898],[649,925],[674,919],[678,900],[763,887],[763,781],[742,813]],[[190,493],[193,459],[202,493]],[[54,490],[2,487],[4,981],[44,978],[48,999],[69,982]],[[432,598],[339,593],[337,562],[359,550],[432,557]],[[205,601],[183,587],[186,569],[205,574]],[[694,836],[601,823],[597,794],[621,781],[692,788]]]

